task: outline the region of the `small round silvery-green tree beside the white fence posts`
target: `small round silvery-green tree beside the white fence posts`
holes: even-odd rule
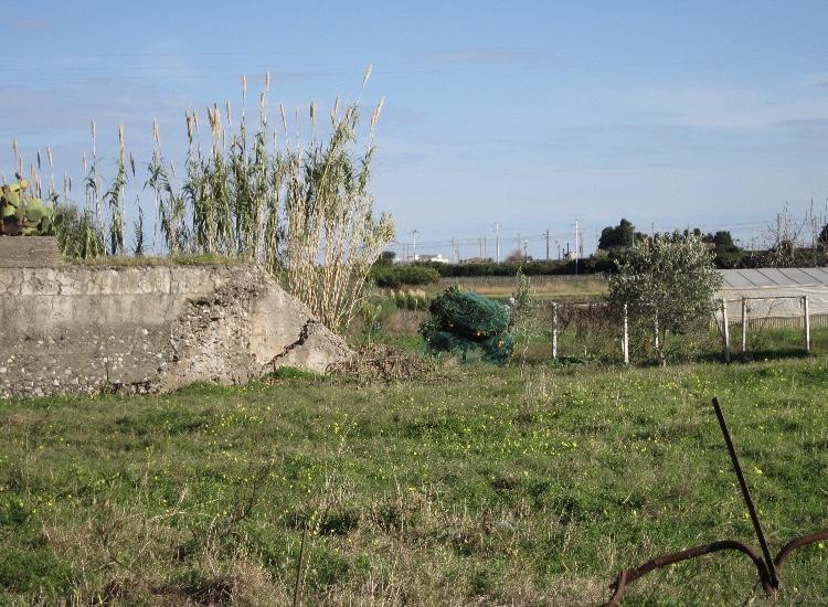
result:
[[[684,333],[714,310],[722,278],[713,257],[700,236],[673,232],[637,243],[616,262],[609,299],[616,309],[626,303],[634,327],[656,338],[662,365],[668,333]]]

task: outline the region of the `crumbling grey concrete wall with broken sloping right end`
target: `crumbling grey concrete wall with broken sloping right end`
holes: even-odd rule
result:
[[[0,267],[0,396],[245,383],[350,355],[250,266]]]

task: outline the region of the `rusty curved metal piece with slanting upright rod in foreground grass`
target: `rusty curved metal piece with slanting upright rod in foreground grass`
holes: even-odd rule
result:
[[[724,441],[728,446],[728,452],[730,454],[731,462],[733,464],[733,470],[736,475],[736,478],[739,479],[742,498],[744,499],[745,505],[747,507],[747,511],[751,515],[751,521],[753,522],[753,529],[756,533],[756,539],[758,540],[760,546],[762,549],[762,555],[760,555],[760,553],[753,550],[751,546],[743,544],[742,542],[736,542],[734,540],[712,542],[710,544],[665,554],[664,556],[652,558],[651,561],[648,561],[644,565],[640,565],[639,567],[636,567],[634,569],[623,569],[618,574],[616,581],[609,586],[609,588],[613,590],[613,596],[604,604],[605,606],[617,607],[624,598],[624,592],[629,584],[659,567],[665,567],[667,565],[680,563],[681,561],[697,558],[699,556],[704,556],[705,554],[711,554],[724,550],[735,550],[737,552],[746,554],[756,566],[756,573],[765,593],[768,595],[774,595],[779,589],[778,572],[787,556],[796,549],[814,544],[821,540],[828,540],[828,530],[818,531],[817,533],[811,533],[810,535],[803,535],[802,537],[795,537],[782,547],[779,553],[776,555],[776,558],[771,558],[771,551],[767,546],[767,541],[765,540],[765,535],[762,531],[762,525],[756,513],[756,508],[753,503],[753,498],[751,497],[750,489],[747,488],[744,475],[742,473],[742,467],[739,464],[736,450],[733,447],[733,441],[731,440],[728,425],[724,422],[724,415],[722,414],[722,408],[719,405],[719,400],[713,398],[712,404],[713,411],[716,415],[716,419],[719,420],[719,426],[722,430],[722,435],[724,436]]]

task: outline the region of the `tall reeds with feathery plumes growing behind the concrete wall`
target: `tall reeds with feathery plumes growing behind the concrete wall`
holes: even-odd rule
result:
[[[368,83],[370,68],[362,86]],[[153,121],[152,157],[144,190],[155,207],[152,254],[195,254],[242,258],[266,268],[316,317],[340,329],[355,315],[371,264],[394,236],[391,217],[373,213],[369,191],[374,134],[381,100],[371,114],[365,146],[360,143],[360,103],[333,105],[325,135],[317,134],[317,105],[309,107],[306,142],[288,136],[285,108],[280,124],[268,121],[269,75],[258,96],[258,116],[246,113],[247,79],[236,125],[230,103],[206,109],[209,134],[202,138],[199,114],[184,115],[188,151],[179,177],[164,157]],[[297,117],[298,120],[298,117]],[[251,125],[250,123],[254,123]],[[97,132],[92,123],[91,162],[84,156],[86,209],[94,217],[95,241],[106,254],[125,253],[125,192],[129,182],[124,128],[118,126],[115,177],[102,195]],[[129,155],[132,178],[135,161]],[[65,193],[68,189],[64,188]],[[140,206],[140,201],[139,201]],[[104,210],[106,213],[104,213]],[[83,217],[87,216],[83,214]],[[139,209],[139,215],[140,215]],[[89,224],[72,222],[73,226]],[[140,248],[145,253],[144,220]],[[160,232],[160,242],[159,242]],[[65,242],[86,242],[64,238]],[[137,242],[137,241],[135,241]],[[97,247],[64,247],[64,254],[96,254]]]

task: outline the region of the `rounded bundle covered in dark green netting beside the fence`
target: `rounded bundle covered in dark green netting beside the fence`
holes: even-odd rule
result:
[[[433,352],[467,352],[480,349],[482,360],[505,363],[514,339],[509,333],[509,309],[491,299],[456,287],[437,297],[431,317],[420,333]]]

